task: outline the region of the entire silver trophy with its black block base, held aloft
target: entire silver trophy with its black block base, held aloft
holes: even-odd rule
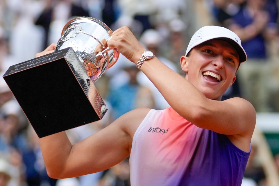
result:
[[[102,119],[94,86],[119,57],[112,30],[91,17],[71,19],[53,53],[11,66],[3,75],[29,122],[44,137]]]

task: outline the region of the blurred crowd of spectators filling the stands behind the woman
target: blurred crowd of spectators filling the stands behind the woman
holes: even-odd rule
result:
[[[112,30],[128,26],[146,49],[181,75],[180,56],[185,55],[189,37],[205,24],[224,26],[239,35],[248,61],[241,65],[237,81],[223,99],[239,96],[250,101],[257,112],[279,112],[276,0],[1,0],[0,14],[2,76],[11,65],[33,59],[37,52],[57,43],[62,28],[74,17],[94,17]],[[68,130],[72,143],[134,108],[169,106],[144,74],[122,55],[95,85],[109,111],[100,121]],[[260,160],[254,158],[257,146],[252,147],[243,186],[268,186]],[[129,160],[78,178],[49,178],[39,138],[1,78],[0,186],[85,185],[130,185]]]

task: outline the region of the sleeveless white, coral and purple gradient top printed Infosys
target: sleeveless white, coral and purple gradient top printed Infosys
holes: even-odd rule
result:
[[[132,186],[240,186],[250,152],[172,108],[150,110],[133,137]]]

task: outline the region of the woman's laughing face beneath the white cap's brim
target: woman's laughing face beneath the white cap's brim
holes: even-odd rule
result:
[[[181,57],[180,63],[190,83],[207,98],[221,100],[236,79],[239,55],[231,44],[216,39],[194,47],[188,57]]]

